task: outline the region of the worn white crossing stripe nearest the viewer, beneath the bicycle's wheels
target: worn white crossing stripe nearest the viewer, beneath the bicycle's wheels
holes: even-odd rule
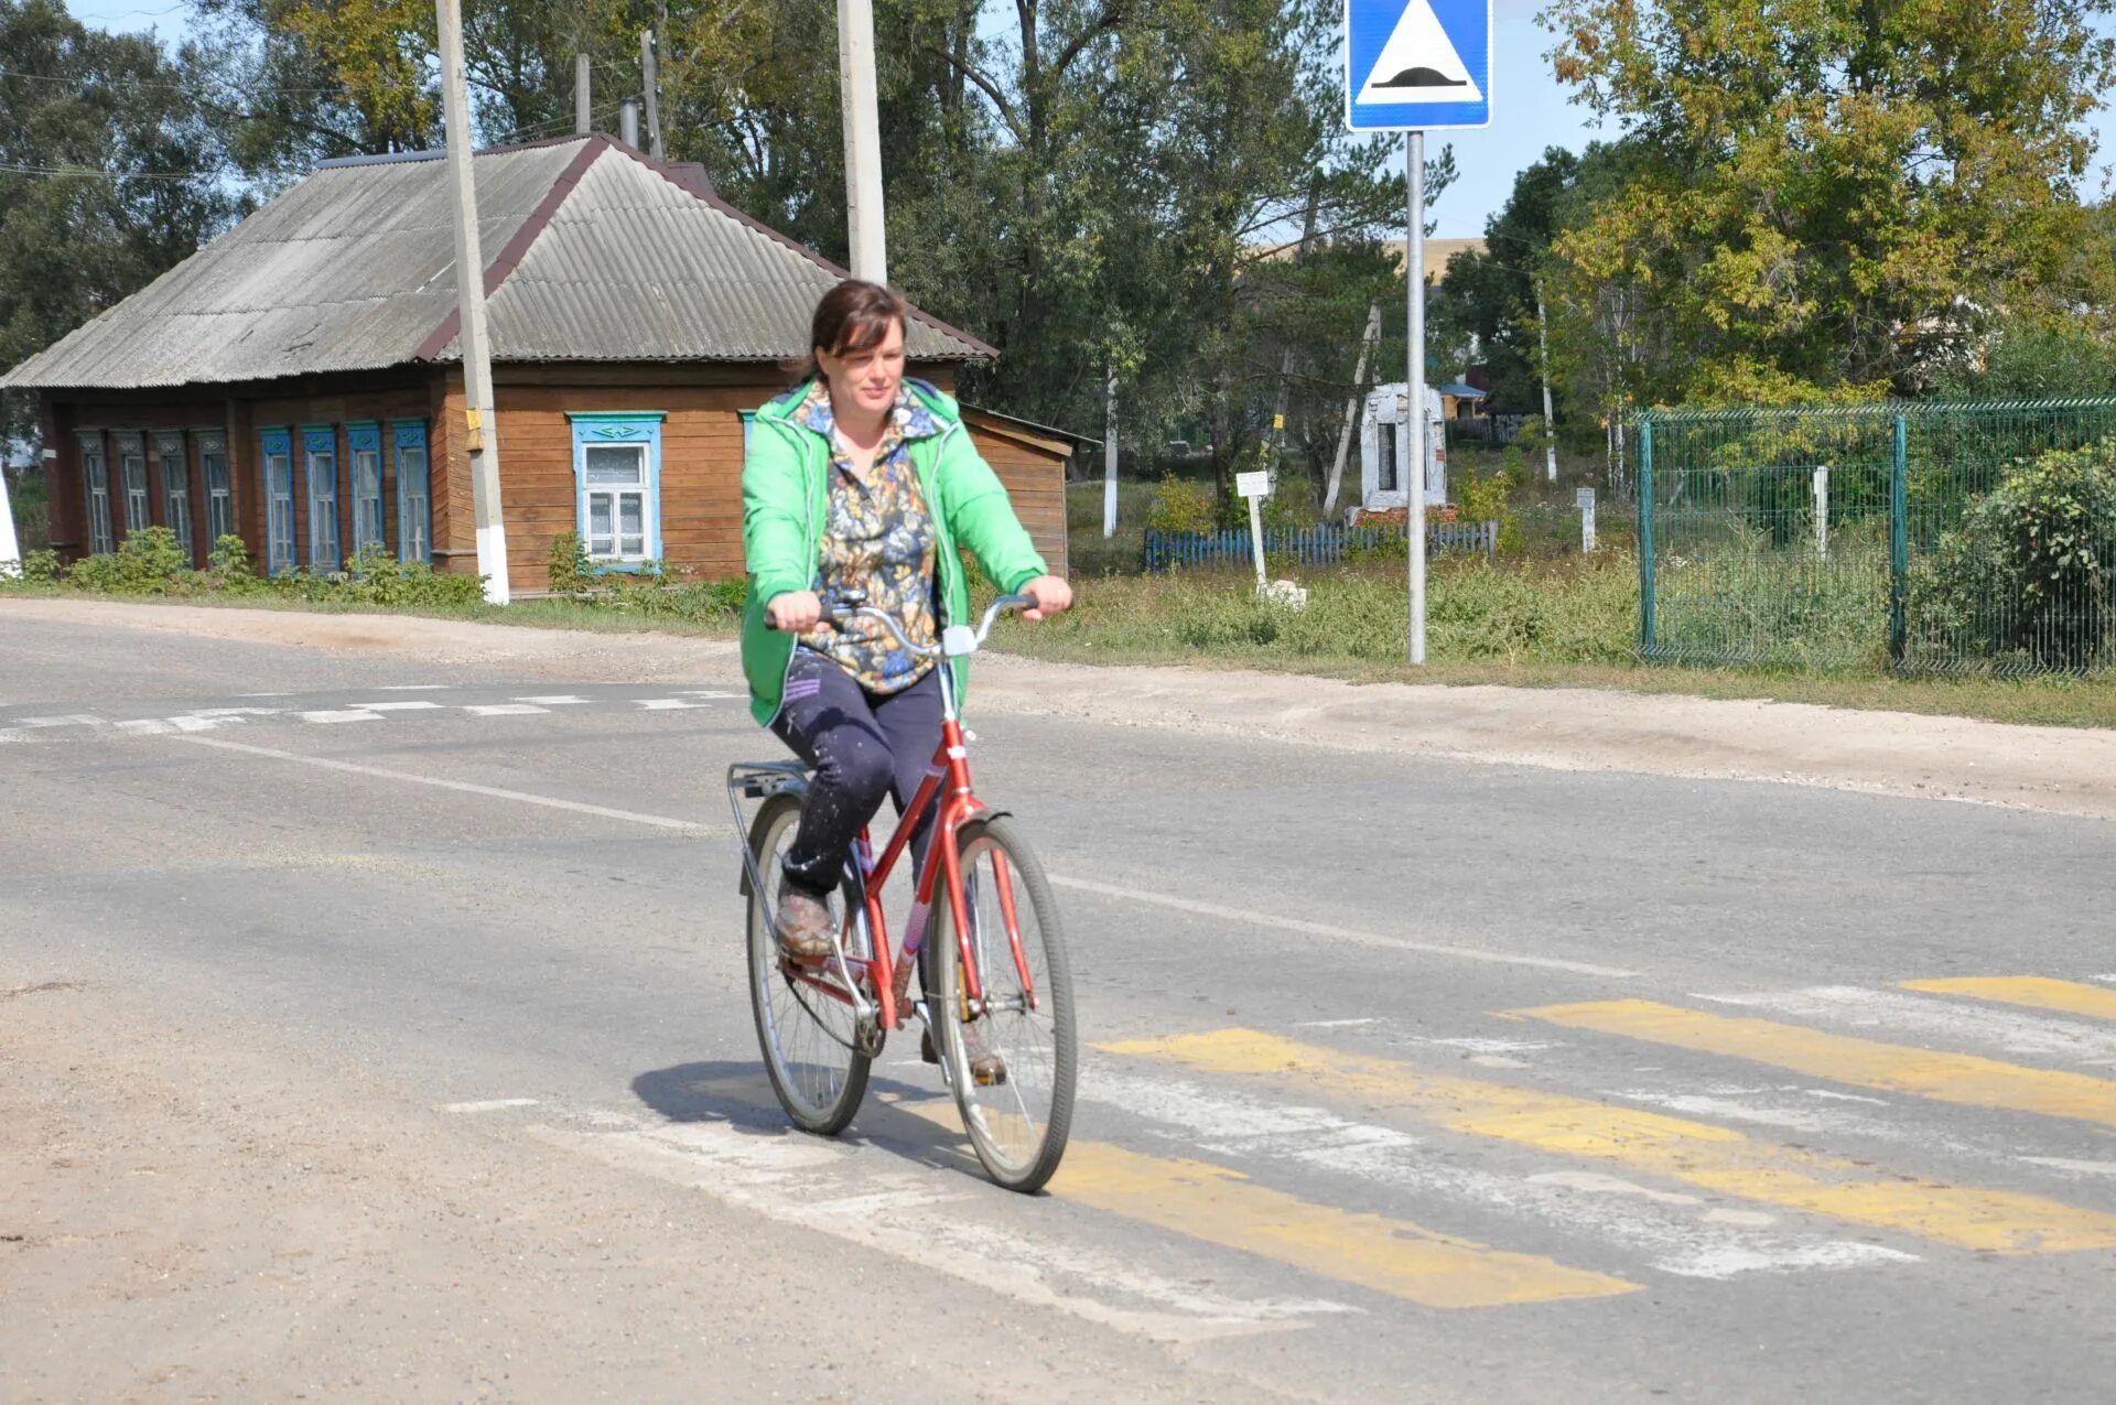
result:
[[[1212,1342],[1303,1327],[1316,1314],[1356,1312],[1325,1299],[1232,1297],[1155,1274],[1136,1259],[980,1223],[978,1202],[988,1200],[984,1187],[929,1170],[884,1170],[895,1157],[874,1147],[796,1132],[758,1134],[717,1121],[635,1124],[612,1132],[531,1126],[529,1136],[1155,1342]]]

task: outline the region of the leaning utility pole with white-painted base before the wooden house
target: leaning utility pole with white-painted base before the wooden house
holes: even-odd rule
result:
[[[455,296],[463,347],[463,430],[470,446],[470,501],[478,523],[478,573],[485,599],[508,603],[508,529],[499,506],[499,417],[493,413],[493,362],[485,345],[485,254],[478,248],[478,193],[470,171],[470,97],[463,93],[463,15],[457,0],[434,0],[440,19],[442,118],[449,133],[449,186],[455,195]]]

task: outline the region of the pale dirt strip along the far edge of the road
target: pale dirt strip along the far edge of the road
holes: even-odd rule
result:
[[[8,618],[391,654],[576,681],[728,681],[736,647],[679,635],[516,628],[104,601]],[[1346,683],[1255,671],[980,660],[975,705],[1111,726],[1562,770],[1780,781],[2116,819],[2116,732],[1583,688]]]

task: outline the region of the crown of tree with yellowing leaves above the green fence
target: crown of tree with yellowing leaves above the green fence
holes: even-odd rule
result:
[[[1634,154],[1564,300],[1663,396],[1923,387],[2065,262],[2112,8],[1557,0],[1557,76]]]

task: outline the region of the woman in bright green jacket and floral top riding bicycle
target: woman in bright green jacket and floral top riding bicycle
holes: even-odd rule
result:
[[[876,284],[849,279],[823,294],[806,375],[758,410],[743,461],[749,707],[815,768],[774,925],[796,961],[832,954],[827,899],[846,851],[884,793],[899,813],[910,804],[942,730],[933,658],[899,647],[880,620],[832,618],[825,597],[857,592],[929,647],[944,624],[969,620],[956,550],[969,548],[1003,590],[1033,601],[1024,618],[1073,603],[954,400],[904,377],[908,315]],[[929,829],[931,810],[916,859]]]

